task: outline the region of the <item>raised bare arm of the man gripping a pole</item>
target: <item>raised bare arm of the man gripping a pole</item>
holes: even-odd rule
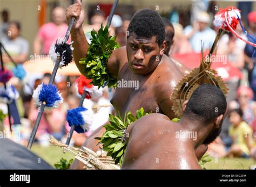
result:
[[[83,28],[82,28],[82,24],[84,22],[84,9],[80,0],[77,0],[76,4],[70,5],[69,8],[66,10],[66,19],[68,20],[68,23],[70,22],[72,17],[76,18],[70,32],[71,39],[73,41],[72,45],[74,48],[73,58],[80,73],[84,74],[84,71],[83,71],[84,64],[80,64],[79,60],[83,57],[86,57],[89,45],[87,43]],[[114,50],[112,52],[110,59],[107,62],[107,68],[113,77],[117,77],[117,74],[118,74],[118,60],[117,60],[118,50],[119,49]]]

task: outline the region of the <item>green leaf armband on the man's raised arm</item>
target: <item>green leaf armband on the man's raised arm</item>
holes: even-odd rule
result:
[[[92,80],[92,84],[100,87],[117,86],[117,78],[111,77],[107,70],[107,61],[114,49],[120,48],[116,42],[116,36],[109,35],[109,28],[100,26],[98,33],[91,31],[91,44],[85,58],[80,59],[80,64],[85,64],[84,73],[86,78]]]

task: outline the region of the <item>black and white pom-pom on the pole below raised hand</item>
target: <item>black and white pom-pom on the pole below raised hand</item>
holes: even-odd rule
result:
[[[68,64],[72,61],[73,51],[72,47],[72,42],[70,44],[64,42],[63,38],[58,38],[56,41],[56,44],[52,44],[50,48],[50,57],[52,61],[56,61],[57,58],[59,57],[60,63],[59,63],[59,68],[61,69],[63,66],[68,66]]]

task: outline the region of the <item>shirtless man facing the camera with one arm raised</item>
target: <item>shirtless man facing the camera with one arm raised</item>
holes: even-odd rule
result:
[[[84,65],[79,64],[79,59],[86,56],[88,44],[82,30],[84,10],[79,0],[66,10],[68,22],[72,16],[76,17],[71,30],[73,57],[80,73],[84,74]],[[122,118],[129,111],[135,114],[140,107],[146,112],[163,113],[170,119],[174,118],[170,95],[183,75],[164,54],[166,41],[163,20],[156,11],[143,9],[133,16],[128,31],[127,46],[112,52],[107,68],[119,81],[138,81],[139,89],[117,88],[111,99],[114,109]],[[96,152],[98,140],[94,138],[101,136],[104,131],[104,128],[98,128],[84,146]],[[202,155],[199,154],[199,157]]]

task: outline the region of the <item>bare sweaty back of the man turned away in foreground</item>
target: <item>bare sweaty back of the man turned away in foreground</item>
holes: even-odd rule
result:
[[[172,122],[159,113],[138,119],[126,131],[129,139],[121,169],[201,169],[196,149],[211,126],[198,128],[197,139],[177,138],[176,132],[191,132],[189,123]]]

